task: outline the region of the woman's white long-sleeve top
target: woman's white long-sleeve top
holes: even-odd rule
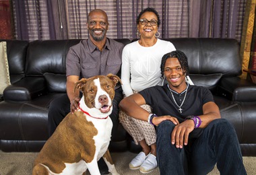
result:
[[[176,50],[171,42],[158,39],[154,46],[141,46],[138,41],[123,48],[121,80],[125,96],[154,85],[162,85],[160,65],[162,56]]]

